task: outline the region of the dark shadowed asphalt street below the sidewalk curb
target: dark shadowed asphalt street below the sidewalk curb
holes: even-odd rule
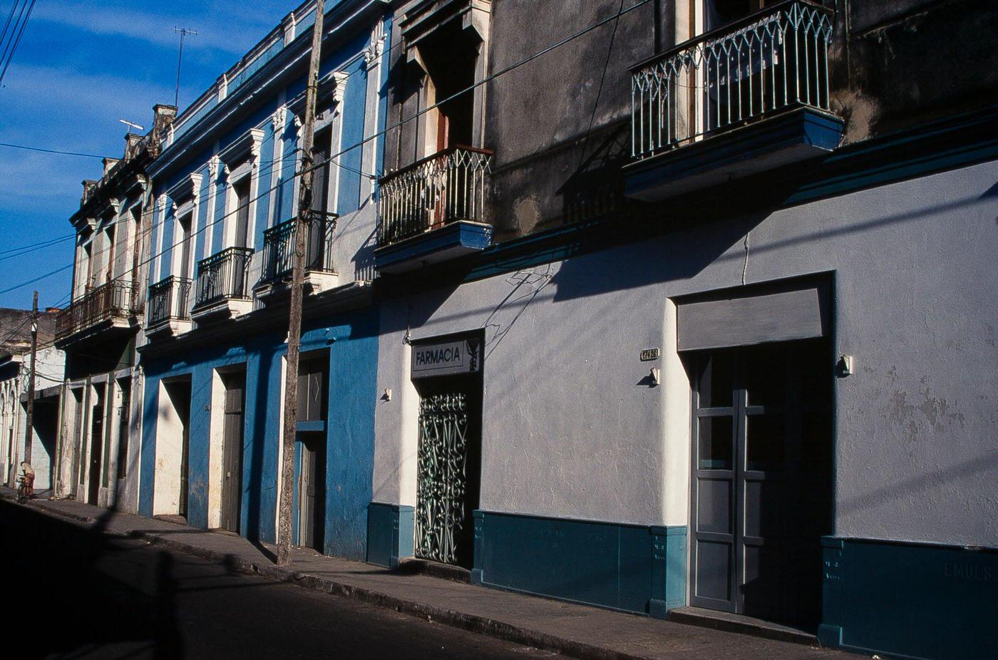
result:
[[[22,594],[14,608],[5,598],[0,657],[556,657],[108,537],[6,501],[0,525],[4,591]]]

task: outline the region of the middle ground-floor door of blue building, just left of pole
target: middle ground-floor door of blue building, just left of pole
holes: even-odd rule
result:
[[[222,424],[221,526],[239,533],[243,510],[243,433],[246,427],[246,371],[222,373],[226,388]]]

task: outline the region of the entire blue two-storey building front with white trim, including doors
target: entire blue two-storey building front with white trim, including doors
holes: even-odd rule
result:
[[[357,559],[372,487],[389,9],[326,3],[306,241],[293,541]],[[182,113],[150,169],[139,510],[269,542],[314,11],[310,0],[291,12]]]

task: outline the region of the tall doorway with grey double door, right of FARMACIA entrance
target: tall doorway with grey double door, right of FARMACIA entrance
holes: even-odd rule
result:
[[[831,532],[829,355],[809,339],[690,359],[692,605],[817,626],[820,537]]]

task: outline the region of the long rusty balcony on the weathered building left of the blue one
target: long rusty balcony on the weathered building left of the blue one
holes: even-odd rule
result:
[[[131,332],[142,306],[135,300],[131,282],[112,281],[88,291],[56,317],[56,340],[70,340],[111,330]]]

